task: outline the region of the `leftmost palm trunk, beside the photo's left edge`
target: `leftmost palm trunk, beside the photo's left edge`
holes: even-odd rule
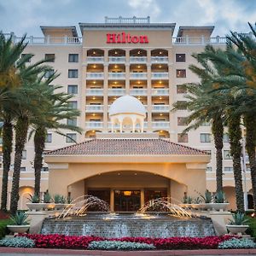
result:
[[[11,162],[11,153],[13,147],[13,125],[11,119],[3,120],[3,177],[2,177],[2,196],[1,196],[1,210],[7,209],[7,193],[8,193],[8,176],[9,166]]]

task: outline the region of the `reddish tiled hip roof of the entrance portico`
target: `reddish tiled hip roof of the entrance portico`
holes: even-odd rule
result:
[[[58,148],[46,155],[166,155],[166,154],[192,154],[207,155],[206,152],[196,148],[186,147],[172,143],[167,139],[135,139],[135,138],[95,138],[84,143],[74,144],[66,148]]]

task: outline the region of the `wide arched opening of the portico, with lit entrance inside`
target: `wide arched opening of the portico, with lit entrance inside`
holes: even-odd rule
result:
[[[113,212],[136,212],[147,201],[159,197],[181,202],[187,186],[149,172],[114,171],[80,180],[68,190],[73,199],[95,195],[107,201]]]

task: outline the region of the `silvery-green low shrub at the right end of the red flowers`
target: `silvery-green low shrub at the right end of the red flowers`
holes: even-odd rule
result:
[[[218,244],[218,249],[236,249],[236,248],[255,248],[256,243],[252,240],[242,238],[232,238],[227,241],[222,241]]]

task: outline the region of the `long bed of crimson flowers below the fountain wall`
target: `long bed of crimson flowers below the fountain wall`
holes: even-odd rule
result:
[[[177,249],[217,249],[218,244],[230,240],[234,236],[207,236],[207,237],[122,237],[106,239],[98,236],[64,236],[64,235],[31,235],[26,236],[35,242],[38,248],[65,248],[65,249],[87,249],[91,241],[128,241],[153,245],[158,250]]]

